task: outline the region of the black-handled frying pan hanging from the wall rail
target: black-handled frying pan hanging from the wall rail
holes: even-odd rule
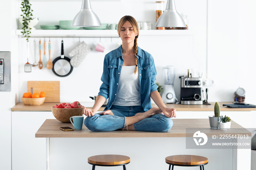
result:
[[[59,77],[66,77],[73,70],[73,67],[70,64],[70,59],[64,56],[63,40],[61,40],[61,55],[60,57],[55,58],[52,64],[53,73]]]

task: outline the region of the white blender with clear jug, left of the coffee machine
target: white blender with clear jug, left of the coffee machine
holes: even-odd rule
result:
[[[163,79],[165,85],[163,86],[162,100],[163,103],[176,103],[176,95],[174,92],[174,78],[175,78],[175,67],[166,66],[163,67]]]

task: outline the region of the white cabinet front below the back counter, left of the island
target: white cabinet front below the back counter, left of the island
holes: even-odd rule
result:
[[[52,112],[12,111],[12,170],[45,170],[46,140],[35,133]]]

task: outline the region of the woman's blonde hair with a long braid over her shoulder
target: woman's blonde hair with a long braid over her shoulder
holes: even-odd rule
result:
[[[137,62],[137,51],[138,51],[138,46],[137,46],[137,39],[138,39],[138,36],[139,36],[139,26],[138,26],[138,23],[136,21],[135,18],[133,18],[132,16],[129,16],[129,15],[125,15],[123,16],[120,21],[118,22],[118,25],[117,25],[117,32],[118,32],[118,35],[120,35],[120,31],[121,31],[121,27],[124,25],[125,22],[129,21],[131,24],[132,24],[132,27],[133,27],[133,31],[135,32],[135,34],[137,34],[135,36],[135,39],[134,39],[134,51],[135,51],[135,70],[134,70],[134,74],[136,74],[137,72],[137,67],[138,67],[138,62]]]

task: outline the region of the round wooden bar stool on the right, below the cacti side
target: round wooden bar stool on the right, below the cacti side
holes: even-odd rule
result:
[[[174,166],[200,166],[200,170],[204,170],[204,165],[208,163],[208,158],[197,155],[173,155],[165,158],[165,162],[169,164],[169,170]]]

